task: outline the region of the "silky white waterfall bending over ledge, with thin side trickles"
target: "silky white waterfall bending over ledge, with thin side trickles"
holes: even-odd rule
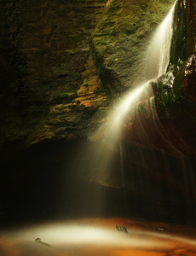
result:
[[[90,160],[89,176],[91,174],[92,180],[101,183],[102,185],[112,185],[113,187],[118,187],[121,183],[124,186],[124,147],[122,147],[122,133],[124,132],[124,126],[131,124],[132,119],[135,117],[135,112],[140,102],[147,102],[151,112],[153,113],[153,125],[156,128],[159,137],[162,137],[164,143],[167,144],[168,148],[172,148],[180,154],[174,147],[170,140],[164,134],[164,129],[159,123],[159,118],[156,113],[152,81],[158,79],[161,75],[166,73],[167,67],[170,62],[170,44],[173,34],[173,15],[176,2],[170,9],[170,13],[165,17],[163,22],[158,27],[157,31],[154,33],[153,38],[147,48],[147,57],[145,58],[143,69],[145,70],[145,75],[142,82],[134,84],[130,91],[120,99],[119,103],[113,107],[112,113],[108,117],[107,124],[104,126],[101,133],[101,143],[95,149]],[[138,79],[137,79],[138,80]],[[156,148],[151,142],[150,137],[147,136],[145,128],[143,128],[142,123],[140,123],[139,129],[141,132],[142,141],[148,145]],[[135,151],[132,150],[132,151]],[[116,152],[116,155],[115,155]],[[117,158],[117,152],[119,152],[121,177],[117,177],[118,182],[113,181],[115,174],[113,171],[115,168],[115,159]],[[134,155],[131,152],[130,155]],[[143,152],[139,153],[143,154]],[[139,155],[138,154],[138,155]],[[128,156],[130,158],[130,156]],[[143,155],[141,155],[141,162],[145,163],[143,160]],[[112,175],[111,175],[112,173]]]

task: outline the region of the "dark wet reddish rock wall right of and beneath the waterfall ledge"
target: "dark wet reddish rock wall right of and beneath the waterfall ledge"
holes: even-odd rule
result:
[[[128,118],[130,121],[124,124],[126,126],[124,140],[157,148],[169,154],[194,156],[196,148],[194,1],[176,2],[173,31],[167,73],[153,81],[154,99],[141,99],[135,110],[135,116],[130,116]],[[142,41],[143,43],[145,44],[145,40]],[[132,67],[130,70],[134,71]]]

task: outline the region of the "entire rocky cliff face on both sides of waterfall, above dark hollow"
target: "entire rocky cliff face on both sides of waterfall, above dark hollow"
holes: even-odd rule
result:
[[[1,144],[95,138],[111,103],[145,79],[147,44],[173,2],[2,0]],[[195,154],[193,0],[177,1],[174,31],[168,74],[175,85],[168,90],[168,74],[164,86],[161,79],[153,84],[157,118],[177,152]],[[155,148],[172,153],[145,106],[125,139],[151,146],[139,122]]]

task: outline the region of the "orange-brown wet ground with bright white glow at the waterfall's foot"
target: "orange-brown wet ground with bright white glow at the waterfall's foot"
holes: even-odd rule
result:
[[[128,233],[119,232],[116,224]],[[1,256],[193,256],[196,229],[123,218],[83,218],[0,230]]]

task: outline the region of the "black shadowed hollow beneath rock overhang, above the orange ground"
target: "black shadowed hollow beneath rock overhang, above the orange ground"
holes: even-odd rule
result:
[[[195,225],[195,159],[121,147],[123,158],[112,152],[105,170],[108,149],[97,157],[85,138],[4,150],[1,224],[118,216]]]

